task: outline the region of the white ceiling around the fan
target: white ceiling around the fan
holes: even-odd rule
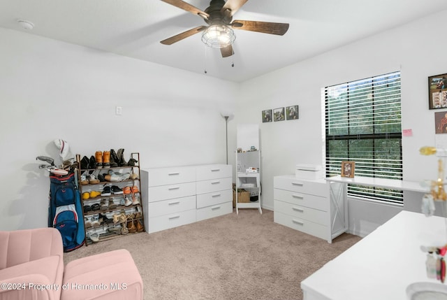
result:
[[[201,10],[210,3],[186,2]],[[0,0],[0,27],[241,82],[445,9],[446,0],[249,0],[233,19],[290,27],[284,36],[235,30],[235,55],[227,58],[200,34],[159,43],[206,25],[160,0]],[[22,29],[17,19],[34,29]]]

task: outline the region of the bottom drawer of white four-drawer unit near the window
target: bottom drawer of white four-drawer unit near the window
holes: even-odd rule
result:
[[[290,227],[295,230],[304,232],[305,234],[311,234],[318,238],[327,239],[329,234],[328,227],[317,224],[308,220],[303,220],[298,217],[292,217],[284,213],[279,213],[276,210],[273,213],[273,220],[275,223]]]

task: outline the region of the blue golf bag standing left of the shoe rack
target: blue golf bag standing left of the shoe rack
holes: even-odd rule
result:
[[[85,241],[82,203],[75,172],[59,176],[50,173],[48,227],[61,233],[64,252],[75,250]]]

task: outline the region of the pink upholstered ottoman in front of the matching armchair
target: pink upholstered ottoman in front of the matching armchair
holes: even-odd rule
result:
[[[142,279],[128,250],[76,259],[65,267],[62,300],[142,298]]]

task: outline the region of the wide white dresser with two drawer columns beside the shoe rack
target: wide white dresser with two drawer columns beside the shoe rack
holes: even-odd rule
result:
[[[142,170],[149,233],[233,212],[232,167],[226,164]]]

